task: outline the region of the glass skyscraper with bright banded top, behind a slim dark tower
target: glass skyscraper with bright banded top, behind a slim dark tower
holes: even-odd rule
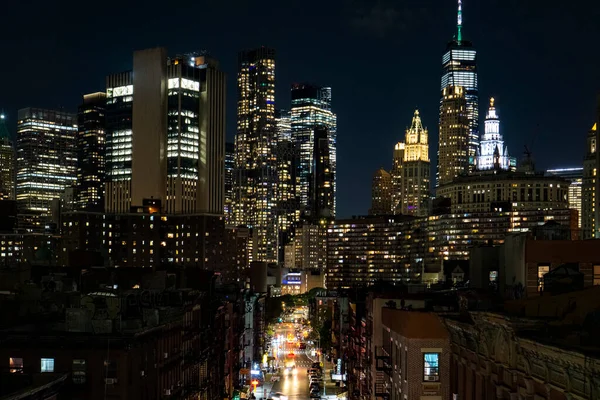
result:
[[[329,147],[330,173],[333,187],[333,205],[335,216],[336,165],[337,165],[337,120],[331,111],[331,88],[309,84],[292,85],[292,138],[300,154],[300,196],[303,211],[309,202],[310,179],[315,165],[313,155],[315,149],[315,132],[327,129]],[[314,189],[313,189],[314,190]]]

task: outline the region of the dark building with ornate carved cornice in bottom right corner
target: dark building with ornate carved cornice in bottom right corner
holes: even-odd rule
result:
[[[444,317],[461,400],[600,398],[600,288]]]

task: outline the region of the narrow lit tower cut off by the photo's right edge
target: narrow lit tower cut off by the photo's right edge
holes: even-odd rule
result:
[[[600,108],[600,106],[599,106]],[[599,112],[600,115],[600,112]],[[583,239],[600,238],[600,204],[598,204],[598,171],[600,171],[600,129],[595,123],[588,132],[586,153],[583,160],[583,183],[581,199],[581,227]]]

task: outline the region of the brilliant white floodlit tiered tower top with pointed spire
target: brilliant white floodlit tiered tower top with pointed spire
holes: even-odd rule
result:
[[[485,116],[485,132],[477,150],[477,169],[480,171],[495,169],[508,171],[516,167],[514,158],[509,157],[504,146],[504,138],[500,133],[500,119],[494,106],[494,98],[490,99],[490,108]]]

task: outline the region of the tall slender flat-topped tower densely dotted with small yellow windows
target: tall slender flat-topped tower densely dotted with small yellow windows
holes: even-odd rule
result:
[[[253,229],[254,261],[277,261],[275,50],[239,54],[233,219]]]

